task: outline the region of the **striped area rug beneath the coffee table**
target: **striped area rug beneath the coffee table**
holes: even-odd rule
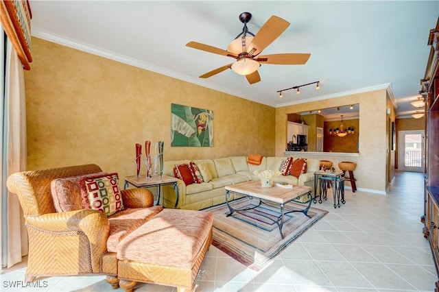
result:
[[[242,209],[257,203],[257,199],[244,197],[231,202],[230,206]],[[289,203],[285,209],[303,210],[306,207],[307,204]],[[256,271],[270,263],[274,256],[328,213],[311,207],[308,210],[311,218],[302,212],[285,215],[282,239],[277,224],[266,218],[275,219],[278,216],[278,205],[262,204],[254,210],[234,212],[230,217],[226,217],[230,212],[226,204],[204,210],[213,215],[213,245]]]

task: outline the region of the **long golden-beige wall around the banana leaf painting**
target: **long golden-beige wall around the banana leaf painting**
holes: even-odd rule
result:
[[[32,57],[28,169],[96,163],[123,179],[135,174],[134,145],[145,140],[164,141],[165,160],[274,155],[270,106],[39,38]],[[214,146],[170,147],[171,104],[213,110]]]

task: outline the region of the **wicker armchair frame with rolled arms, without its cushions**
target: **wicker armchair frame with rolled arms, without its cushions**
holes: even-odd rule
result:
[[[51,196],[52,180],[101,171],[97,165],[79,165],[10,175],[8,188],[19,197],[29,238],[26,281],[37,276],[105,274],[113,288],[118,287],[118,260],[106,247],[107,217],[98,210],[56,212]],[[121,195],[127,208],[153,205],[154,198],[145,189]]]

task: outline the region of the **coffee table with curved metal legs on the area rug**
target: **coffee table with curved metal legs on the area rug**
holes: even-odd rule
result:
[[[277,224],[279,228],[279,232],[281,233],[282,239],[284,238],[282,227],[283,227],[283,217],[292,212],[302,212],[305,216],[311,218],[308,215],[309,207],[311,206],[312,197],[311,197],[311,186],[296,186],[290,184],[289,186],[278,186],[273,184],[271,188],[266,188],[261,186],[261,180],[251,180],[250,182],[242,182],[240,184],[233,184],[230,186],[226,186],[226,204],[228,206],[228,210],[230,212],[226,215],[232,216],[234,212],[246,212],[253,209],[258,208],[261,204],[278,204],[279,206],[279,216],[277,220],[273,220],[270,217],[266,217],[270,219],[274,223]],[[239,195],[244,195],[248,197],[248,199],[259,199],[259,204],[257,206],[251,208],[244,209],[234,209],[230,206],[228,198],[230,197],[230,193],[237,193]],[[285,208],[285,205],[293,202],[296,199],[299,199],[302,196],[309,196],[308,206],[303,210],[292,210],[289,208]],[[301,202],[296,202],[302,204]],[[265,217],[265,216],[264,216]]]

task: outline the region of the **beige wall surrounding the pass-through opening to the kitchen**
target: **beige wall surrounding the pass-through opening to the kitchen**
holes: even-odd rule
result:
[[[317,156],[300,152],[300,156],[331,160],[335,167],[340,161],[357,162],[355,178],[357,188],[367,191],[385,193],[387,183],[387,160],[388,134],[386,133],[386,102],[388,101],[387,90],[375,90],[368,93],[346,95],[333,99],[313,101],[306,104],[285,106],[276,108],[276,156],[284,156],[287,131],[287,114],[292,112],[305,112],[318,108],[333,108],[359,104],[359,155],[335,156],[325,154]],[[368,129],[373,129],[370,131]],[[346,184],[348,185],[348,184]]]

